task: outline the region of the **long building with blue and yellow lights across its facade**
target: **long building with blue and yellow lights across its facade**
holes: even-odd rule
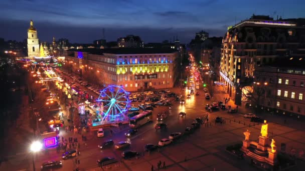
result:
[[[124,86],[127,91],[173,87],[174,49],[69,49],[66,64],[99,84]]]

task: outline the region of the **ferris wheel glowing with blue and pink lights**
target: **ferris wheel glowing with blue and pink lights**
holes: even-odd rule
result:
[[[128,118],[125,115],[131,102],[128,99],[128,95],[129,92],[119,85],[108,85],[108,87],[101,90],[96,100],[101,102],[101,121],[105,123]]]

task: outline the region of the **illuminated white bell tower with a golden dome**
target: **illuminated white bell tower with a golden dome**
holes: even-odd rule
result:
[[[39,56],[39,39],[37,36],[37,30],[34,27],[33,21],[30,22],[30,28],[28,29],[28,56]]]

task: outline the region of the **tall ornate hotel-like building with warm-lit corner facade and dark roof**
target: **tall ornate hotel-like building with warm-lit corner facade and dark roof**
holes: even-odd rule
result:
[[[295,22],[253,15],[234,26],[222,40],[220,80],[237,105],[241,90],[253,83],[256,66],[272,63],[275,58],[304,54],[305,27]]]

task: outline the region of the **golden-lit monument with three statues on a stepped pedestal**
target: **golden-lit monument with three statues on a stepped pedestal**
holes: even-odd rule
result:
[[[244,135],[245,139],[243,140],[241,150],[245,152],[246,155],[270,165],[276,164],[277,151],[275,140],[272,139],[271,143],[269,142],[268,123],[266,120],[264,120],[264,123],[261,125],[258,142],[249,140],[250,131],[248,129],[244,132]]]

